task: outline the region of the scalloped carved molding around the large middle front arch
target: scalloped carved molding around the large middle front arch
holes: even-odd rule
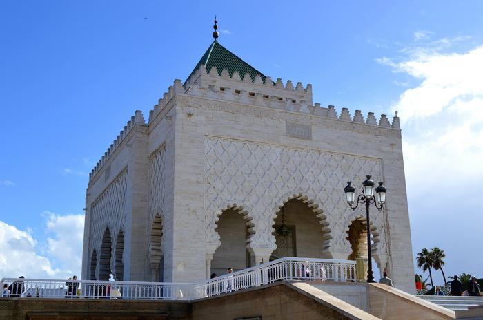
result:
[[[277,219],[277,215],[281,211],[284,204],[294,199],[302,201],[302,203],[306,204],[306,206],[308,206],[308,208],[310,208],[311,211],[315,213],[315,217],[317,217],[317,219],[319,220],[319,224],[321,224],[322,233],[324,234],[324,237],[322,238],[322,253],[331,255],[330,246],[331,246],[331,239],[332,239],[332,229],[330,228],[330,224],[327,220],[327,215],[324,214],[324,209],[322,209],[320,205],[317,204],[317,202],[315,202],[315,200],[308,197],[308,195],[304,195],[304,193],[302,192],[289,193],[285,195],[281,201],[277,202],[278,205],[274,210],[273,215],[270,217],[270,221],[271,221],[270,226],[272,230],[275,228],[275,220]],[[273,231],[272,231],[271,240],[275,250],[276,248],[275,235],[273,235]]]

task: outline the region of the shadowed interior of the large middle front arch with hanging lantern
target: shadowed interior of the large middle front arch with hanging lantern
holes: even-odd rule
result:
[[[282,216],[289,233],[283,235]],[[330,258],[324,253],[324,232],[316,214],[303,200],[288,200],[275,218],[273,235],[277,248],[270,259],[281,257]]]

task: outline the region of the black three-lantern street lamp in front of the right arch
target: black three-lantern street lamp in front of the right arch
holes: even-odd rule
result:
[[[366,175],[366,180],[362,182],[362,195],[357,197],[355,200],[355,188],[351,186],[352,182],[348,181],[347,186],[344,188],[344,193],[346,193],[346,200],[351,207],[355,210],[360,204],[366,204],[366,224],[367,224],[367,255],[369,268],[367,270],[367,282],[375,282],[373,277],[373,262],[371,257],[371,227],[369,226],[369,204],[373,203],[374,206],[381,210],[386,203],[386,191],[387,189],[382,185],[383,182],[379,182],[379,186],[374,188],[374,181],[371,180],[371,175]],[[374,195],[374,191],[376,195]],[[355,204],[355,206],[353,206]]]

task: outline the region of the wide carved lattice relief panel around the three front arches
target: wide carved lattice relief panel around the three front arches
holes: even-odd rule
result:
[[[228,138],[205,139],[206,243],[219,245],[215,222],[226,203],[244,206],[253,217],[255,234],[250,246],[275,249],[272,235],[279,206],[293,193],[303,193],[320,205],[331,229],[330,251],[351,252],[348,225],[365,211],[348,208],[346,181],[362,184],[366,173],[379,181],[381,161],[341,153],[298,149]],[[385,244],[384,216],[372,211],[379,240]],[[385,248],[386,246],[380,246]],[[385,249],[384,249],[385,250]]]

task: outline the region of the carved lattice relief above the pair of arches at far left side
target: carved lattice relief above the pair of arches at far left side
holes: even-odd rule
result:
[[[92,250],[97,251],[98,260],[101,253],[101,242],[106,227],[110,230],[111,244],[111,270],[115,270],[115,242],[119,231],[124,231],[126,220],[126,178],[128,170],[124,170],[99,198],[92,203],[90,209],[90,255]]]

